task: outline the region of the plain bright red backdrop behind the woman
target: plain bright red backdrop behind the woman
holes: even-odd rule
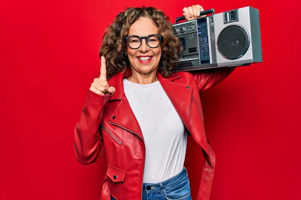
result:
[[[196,3],[216,13],[253,6],[261,25],[263,62],[237,68],[201,95],[217,157],[210,199],[301,199],[301,10],[293,0],[2,1],[0,199],[99,199],[105,157],[81,165],[73,130],[99,73],[104,28],[126,6],[156,6],[174,22]],[[194,199],[196,147],[189,140]]]

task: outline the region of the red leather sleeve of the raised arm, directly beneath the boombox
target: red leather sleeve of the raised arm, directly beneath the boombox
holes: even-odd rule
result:
[[[192,74],[195,77],[199,91],[201,92],[221,82],[232,73],[234,69],[235,67],[220,67],[193,71]]]

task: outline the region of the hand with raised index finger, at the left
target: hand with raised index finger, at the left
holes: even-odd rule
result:
[[[104,56],[101,56],[100,76],[99,78],[94,78],[90,90],[99,95],[113,94],[115,92],[115,88],[113,86],[110,87],[106,80],[106,64]]]

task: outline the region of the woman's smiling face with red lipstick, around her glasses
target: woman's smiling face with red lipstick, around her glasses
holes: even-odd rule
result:
[[[129,27],[128,35],[141,37],[149,34],[158,34],[158,31],[159,28],[151,19],[141,17]],[[157,73],[162,53],[161,45],[156,48],[150,48],[146,44],[146,40],[142,39],[141,46],[137,49],[126,46],[132,74],[144,76]]]

